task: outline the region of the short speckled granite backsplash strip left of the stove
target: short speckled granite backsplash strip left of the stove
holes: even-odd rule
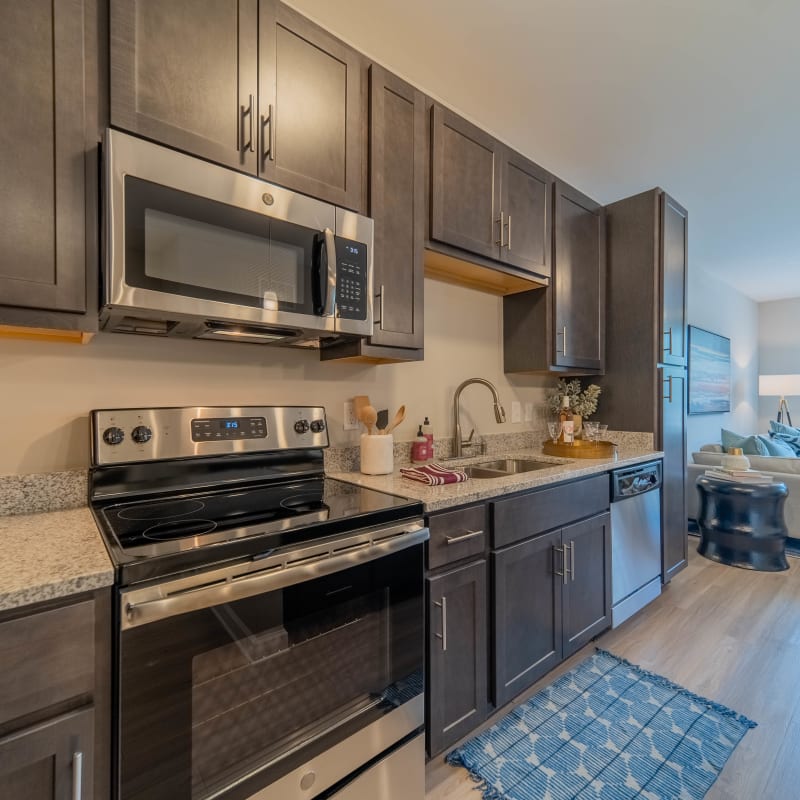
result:
[[[41,514],[87,505],[87,473],[0,475],[0,516]]]

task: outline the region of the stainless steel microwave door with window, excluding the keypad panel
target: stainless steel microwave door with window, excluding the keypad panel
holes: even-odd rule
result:
[[[336,208],[118,131],[105,305],[333,332]]]

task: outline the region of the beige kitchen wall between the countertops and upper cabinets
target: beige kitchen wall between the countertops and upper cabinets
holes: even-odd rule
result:
[[[332,442],[345,444],[358,433],[342,430],[342,404],[368,394],[392,414],[406,404],[397,435],[406,440],[426,414],[436,435],[449,436],[454,389],[481,376],[497,386],[509,421],[498,425],[489,393],[473,386],[462,397],[465,426],[531,428],[511,424],[511,401],[541,407],[553,381],[503,375],[502,300],[436,281],[425,292],[425,361],[413,364],[320,363],[304,350],[124,334],[100,333],[84,346],[0,340],[0,474],[86,468],[93,408],[321,404]]]

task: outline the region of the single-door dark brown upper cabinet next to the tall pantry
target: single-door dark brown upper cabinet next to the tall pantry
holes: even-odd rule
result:
[[[605,367],[603,207],[555,181],[550,286],[503,298],[506,372],[596,375]]]

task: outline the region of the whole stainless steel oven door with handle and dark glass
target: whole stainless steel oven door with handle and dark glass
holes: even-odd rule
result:
[[[418,732],[427,537],[386,527],[122,591],[117,797],[313,798]]]

